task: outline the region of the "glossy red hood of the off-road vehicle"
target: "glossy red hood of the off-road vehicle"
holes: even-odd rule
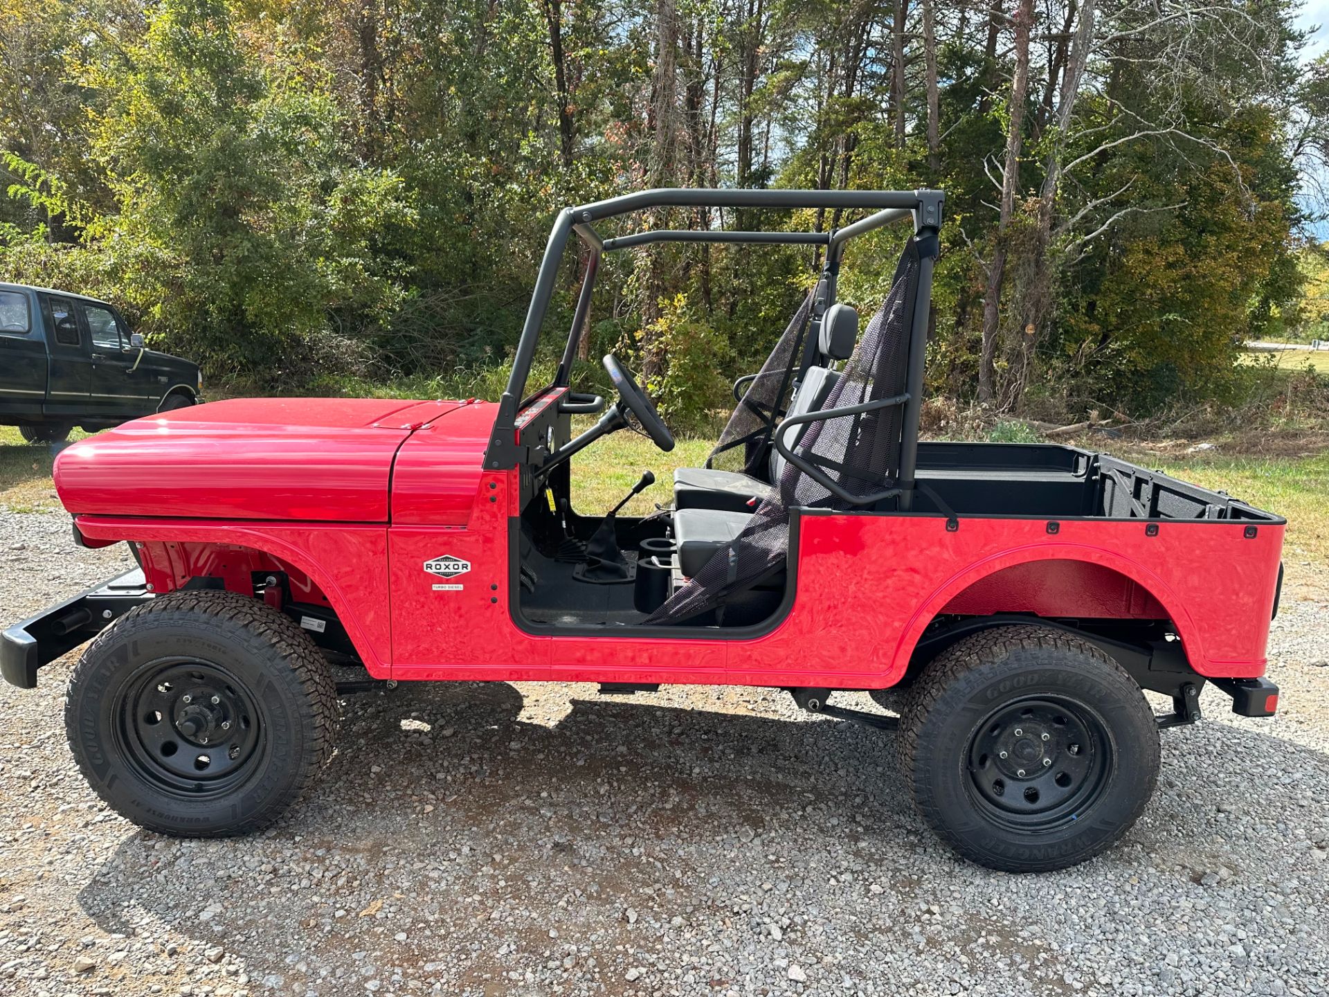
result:
[[[492,407],[397,399],[213,401],[76,443],[56,459],[56,489],[74,514],[387,522],[397,449],[457,408]],[[476,453],[477,469],[482,456]]]

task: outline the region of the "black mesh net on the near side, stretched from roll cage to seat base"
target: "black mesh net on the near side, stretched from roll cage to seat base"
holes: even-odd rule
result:
[[[905,391],[909,334],[918,298],[920,254],[910,239],[900,258],[890,292],[868,323],[868,330],[845,363],[839,380],[815,411],[829,411],[896,397]],[[904,407],[893,405],[859,415],[815,420],[793,452],[817,467],[855,497],[867,497],[894,485],[904,441]],[[789,509],[853,508],[793,461],[785,461],[777,495],[764,500],[732,542],[710,561],[647,623],[680,623],[751,589],[777,572],[789,546]]]

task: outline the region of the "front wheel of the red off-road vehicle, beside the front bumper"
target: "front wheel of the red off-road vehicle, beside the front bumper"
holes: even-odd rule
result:
[[[231,592],[161,596],[88,647],[65,726],[93,791],[140,827],[259,831],[332,754],[336,686],[290,618]]]

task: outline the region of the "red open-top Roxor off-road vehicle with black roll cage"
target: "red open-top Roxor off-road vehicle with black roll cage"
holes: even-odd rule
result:
[[[829,233],[642,231],[659,206],[869,211]],[[140,570],[4,635],[3,670],[96,635],[66,723],[92,787],[130,820],[231,835],[275,820],[332,750],[334,661],[373,681],[771,686],[813,713],[898,726],[908,791],[961,855],[1011,871],[1082,861],[1154,790],[1159,728],[1212,682],[1247,717],[1284,520],[1073,447],[920,443],[940,191],[651,190],[560,213],[498,403],[256,399],[74,444],[56,487],[86,546]],[[912,234],[860,331],[836,303],[847,243]],[[589,251],[553,380],[528,386],[570,237]],[[815,291],[755,375],[708,467],[645,518],[569,502],[606,433],[674,440],[633,375],[570,371],[601,255],[661,241],[823,249]],[[599,420],[571,435],[571,416]],[[728,469],[726,469],[728,464]],[[650,479],[643,475],[643,483]],[[900,718],[831,705],[898,686]],[[1155,715],[1142,690],[1171,698]]]

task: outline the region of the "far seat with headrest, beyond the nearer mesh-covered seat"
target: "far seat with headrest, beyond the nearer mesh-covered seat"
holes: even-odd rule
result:
[[[857,342],[859,312],[848,304],[832,304],[827,308],[817,332],[817,358],[821,363],[809,367],[803,375],[803,380],[795,386],[787,416],[816,412],[825,404],[831,389],[840,380],[840,372],[835,370],[833,364],[849,359]],[[803,423],[784,436],[784,443],[789,449],[797,447],[807,428],[808,424]],[[751,513],[760,502],[775,496],[775,483],[784,473],[784,455],[772,445],[767,456],[767,473],[769,476],[767,481],[740,471],[676,468],[674,471],[674,508]],[[683,573],[688,574],[686,570]]]

